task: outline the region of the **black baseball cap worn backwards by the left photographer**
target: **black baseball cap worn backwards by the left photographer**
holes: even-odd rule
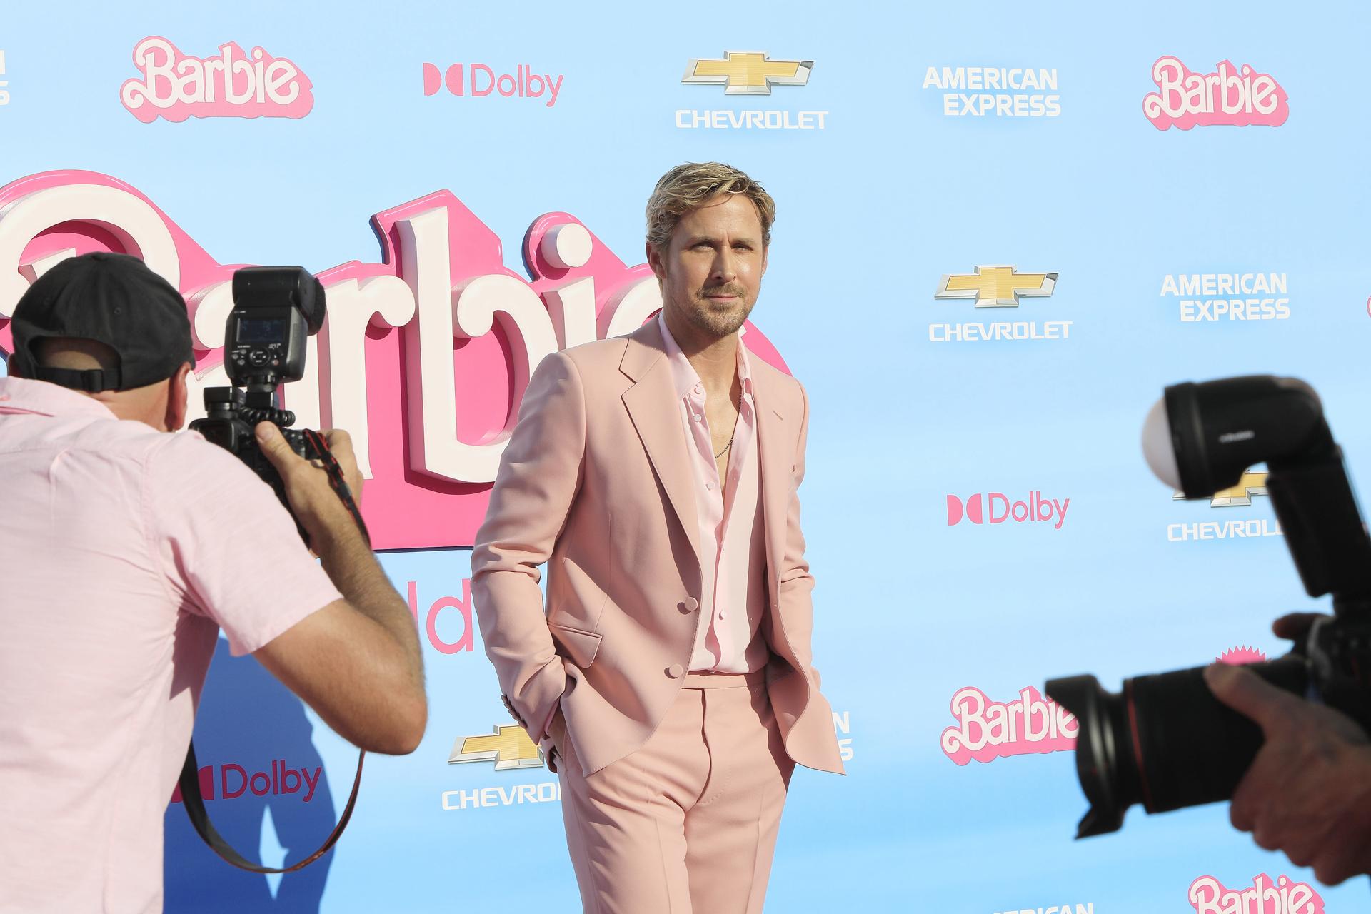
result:
[[[15,374],[74,391],[129,391],[195,365],[191,319],[175,288],[128,254],[82,254],[44,273],[19,297],[10,323]],[[95,340],[115,351],[114,370],[40,366],[33,343],[44,337]]]

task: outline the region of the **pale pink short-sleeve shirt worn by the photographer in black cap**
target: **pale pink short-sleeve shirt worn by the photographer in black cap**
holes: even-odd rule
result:
[[[160,911],[218,630],[250,654],[337,599],[229,452],[0,378],[0,913]]]

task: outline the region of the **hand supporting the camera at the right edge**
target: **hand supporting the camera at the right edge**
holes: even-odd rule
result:
[[[1289,628],[1304,619],[1286,617]],[[1278,625],[1279,632],[1279,625]],[[1265,734],[1233,795],[1234,828],[1312,866],[1337,885],[1371,873],[1371,740],[1352,718],[1312,704],[1238,666],[1205,670],[1215,696]]]

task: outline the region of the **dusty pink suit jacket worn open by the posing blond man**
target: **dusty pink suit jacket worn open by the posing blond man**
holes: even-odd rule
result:
[[[753,359],[771,647],[766,688],[799,765],[842,773],[810,662],[814,580],[797,488],[809,403]],[[640,748],[676,700],[699,613],[695,492],[657,321],[553,354],[529,380],[472,554],[472,592],[506,707],[592,774]],[[539,566],[547,562],[547,607]],[[562,739],[557,734],[557,739]],[[544,758],[553,739],[543,740]]]

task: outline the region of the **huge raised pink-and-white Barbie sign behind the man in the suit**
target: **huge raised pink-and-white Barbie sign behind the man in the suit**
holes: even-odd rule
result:
[[[547,212],[524,236],[525,280],[505,267],[499,237],[447,190],[378,212],[372,227],[380,263],[318,274],[328,319],[308,340],[308,373],[282,399],[298,428],[352,433],[376,548],[472,545],[529,374],[551,352],[642,326],[662,307],[657,278],[647,264],[627,266],[576,217]],[[47,171],[0,188],[0,354],[11,351],[8,318],[29,284],[89,251],[137,254],[185,296],[199,412],[203,388],[228,384],[223,323],[243,264],[215,260],[152,200],[104,174]],[[786,370],[751,325],[746,345]],[[411,600],[429,641],[470,650],[468,634],[451,640],[457,615],[469,613],[465,589],[429,599]]]

